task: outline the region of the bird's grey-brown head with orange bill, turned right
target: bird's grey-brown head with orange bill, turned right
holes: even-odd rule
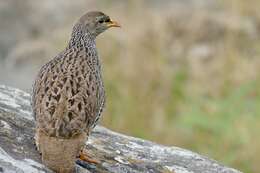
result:
[[[78,24],[81,25],[82,32],[89,32],[96,37],[111,27],[120,27],[119,23],[110,19],[110,17],[99,11],[88,12],[83,15]]]

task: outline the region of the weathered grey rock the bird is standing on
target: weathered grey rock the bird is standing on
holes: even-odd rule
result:
[[[52,172],[33,144],[30,95],[0,86],[0,173]],[[96,127],[85,151],[99,163],[77,161],[77,172],[239,173],[214,160]]]

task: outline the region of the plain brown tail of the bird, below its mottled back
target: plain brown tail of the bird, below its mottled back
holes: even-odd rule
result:
[[[82,133],[70,139],[61,139],[47,136],[37,130],[36,139],[44,165],[57,173],[74,172],[76,156],[84,145],[86,134]]]

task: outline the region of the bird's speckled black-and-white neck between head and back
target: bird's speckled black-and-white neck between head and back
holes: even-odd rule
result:
[[[80,24],[74,26],[67,49],[74,47],[87,47],[91,49],[96,47],[96,37],[88,31],[83,32],[81,27],[82,25]]]

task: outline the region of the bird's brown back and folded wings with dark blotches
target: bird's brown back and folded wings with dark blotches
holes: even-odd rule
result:
[[[33,88],[37,128],[51,137],[88,132],[104,104],[104,88],[95,48],[72,47],[40,70]]]

